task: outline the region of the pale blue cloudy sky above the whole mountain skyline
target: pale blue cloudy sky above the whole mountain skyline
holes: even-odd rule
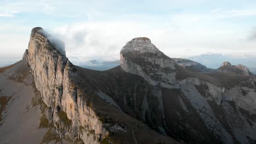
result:
[[[0,59],[22,57],[33,27],[66,44],[74,64],[112,61],[148,37],[170,57],[256,55],[254,1],[0,1]]]

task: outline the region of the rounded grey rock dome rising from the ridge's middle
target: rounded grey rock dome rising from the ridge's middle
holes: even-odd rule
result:
[[[152,85],[172,87],[175,63],[158,50],[148,38],[134,38],[120,52],[120,65],[128,73],[137,74]]]

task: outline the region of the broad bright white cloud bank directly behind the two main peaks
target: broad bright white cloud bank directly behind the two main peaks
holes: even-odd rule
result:
[[[190,20],[189,20],[190,21]],[[183,23],[176,19],[176,23]],[[189,57],[207,52],[255,53],[254,43],[239,40],[245,33],[233,29],[197,27],[172,23],[152,26],[149,21],[91,21],[49,29],[66,44],[69,59],[82,64],[89,59],[113,61],[119,59],[121,48],[135,37],[148,37],[170,57]],[[190,28],[192,27],[192,28]],[[194,27],[194,29],[193,29]],[[46,29],[47,31],[47,29]],[[243,47],[243,49],[241,49]]]

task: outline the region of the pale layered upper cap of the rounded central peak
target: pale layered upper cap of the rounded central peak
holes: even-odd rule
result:
[[[146,37],[134,38],[123,47],[121,52],[152,52],[152,53],[162,53],[151,40]]]

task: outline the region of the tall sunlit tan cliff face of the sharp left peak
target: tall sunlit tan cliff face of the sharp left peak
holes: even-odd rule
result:
[[[30,65],[36,88],[48,106],[48,118],[60,137],[82,139],[88,143],[98,143],[108,135],[94,110],[84,106],[79,95],[77,70],[44,35],[42,28],[34,28],[24,59]],[[79,129],[80,128],[80,129]],[[90,131],[94,133],[90,133]]]

